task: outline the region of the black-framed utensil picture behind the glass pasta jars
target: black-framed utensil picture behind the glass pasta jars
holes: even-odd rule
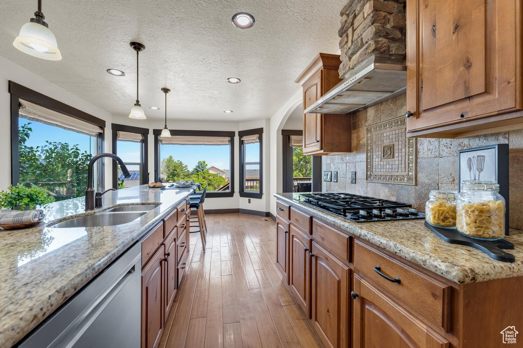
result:
[[[509,229],[508,144],[494,144],[459,150],[458,191],[466,180],[495,181],[505,198],[505,235]]]

